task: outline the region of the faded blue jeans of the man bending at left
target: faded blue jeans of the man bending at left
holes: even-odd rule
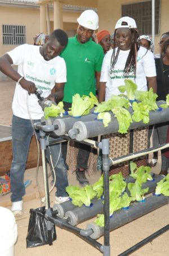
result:
[[[39,122],[40,120],[33,120]],[[22,200],[25,195],[24,172],[26,168],[26,160],[28,157],[30,140],[33,135],[33,127],[30,120],[13,116],[12,118],[12,150],[13,159],[11,164],[11,201],[17,202]],[[37,133],[39,138],[39,133]],[[56,173],[56,195],[57,197],[67,197],[65,187],[68,186],[68,176],[66,167],[60,151],[60,144],[50,146],[46,150],[47,160],[50,163],[51,157]],[[58,159],[59,158],[59,159]],[[57,161],[58,160],[58,161]],[[51,164],[50,164],[51,165]]]

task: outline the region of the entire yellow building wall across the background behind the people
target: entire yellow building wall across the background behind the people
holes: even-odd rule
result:
[[[142,2],[141,0],[63,0],[63,5],[78,5],[97,7],[99,14],[99,30],[108,29],[113,33],[115,23],[121,18],[121,6],[127,3]],[[159,36],[166,31],[169,31],[169,1],[161,0],[160,14],[160,29],[159,35],[155,36],[155,53],[159,52],[158,42]],[[19,6],[0,6],[0,56],[8,50],[13,49],[16,45],[3,45],[2,42],[2,25],[25,25],[26,26],[26,43],[33,44],[33,36],[39,32],[39,7],[19,7]],[[77,29],[77,18],[79,12],[63,11],[63,29],[68,33],[68,36],[73,36]],[[51,31],[54,28],[53,9],[50,8],[50,24]]]

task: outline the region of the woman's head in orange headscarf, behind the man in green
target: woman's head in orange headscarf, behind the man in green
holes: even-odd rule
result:
[[[103,29],[96,33],[97,42],[100,44],[104,50],[104,54],[110,50],[110,33],[109,31]]]

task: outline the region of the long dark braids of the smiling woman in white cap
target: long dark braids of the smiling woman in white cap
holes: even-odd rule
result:
[[[113,71],[115,63],[118,59],[119,54],[119,47],[117,49],[117,53],[115,54],[115,35],[116,35],[117,29],[114,31],[114,42],[113,42],[113,53],[111,58],[111,64],[110,64],[110,73]],[[126,65],[124,67],[124,74],[125,76],[128,76],[131,71],[134,71],[134,75],[136,76],[136,58],[137,58],[137,52],[140,48],[140,40],[139,40],[139,33],[134,28],[130,28],[130,31],[133,35],[133,40],[131,44],[131,49],[127,57]]]

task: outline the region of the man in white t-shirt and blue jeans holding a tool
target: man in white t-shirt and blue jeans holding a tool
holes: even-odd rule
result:
[[[43,46],[20,45],[0,58],[0,70],[17,82],[12,103],[11,210],[14,215],[23,214],[24,172],[33,123],[43,116],[34,92],[39,88],[43,92],[42,97],[55,99],[56,103],[63,99],[66,65],[59,54],[67,44],[66,33],[56,29]],[[17,65],[17,71],[11,65]],[[68,186],[66,167],[60,145],[50,146],[50,151],[56,173],[55,203],[62,203],[69,199],[65,191]],[[50,162],[49,148],[47,159]]]

